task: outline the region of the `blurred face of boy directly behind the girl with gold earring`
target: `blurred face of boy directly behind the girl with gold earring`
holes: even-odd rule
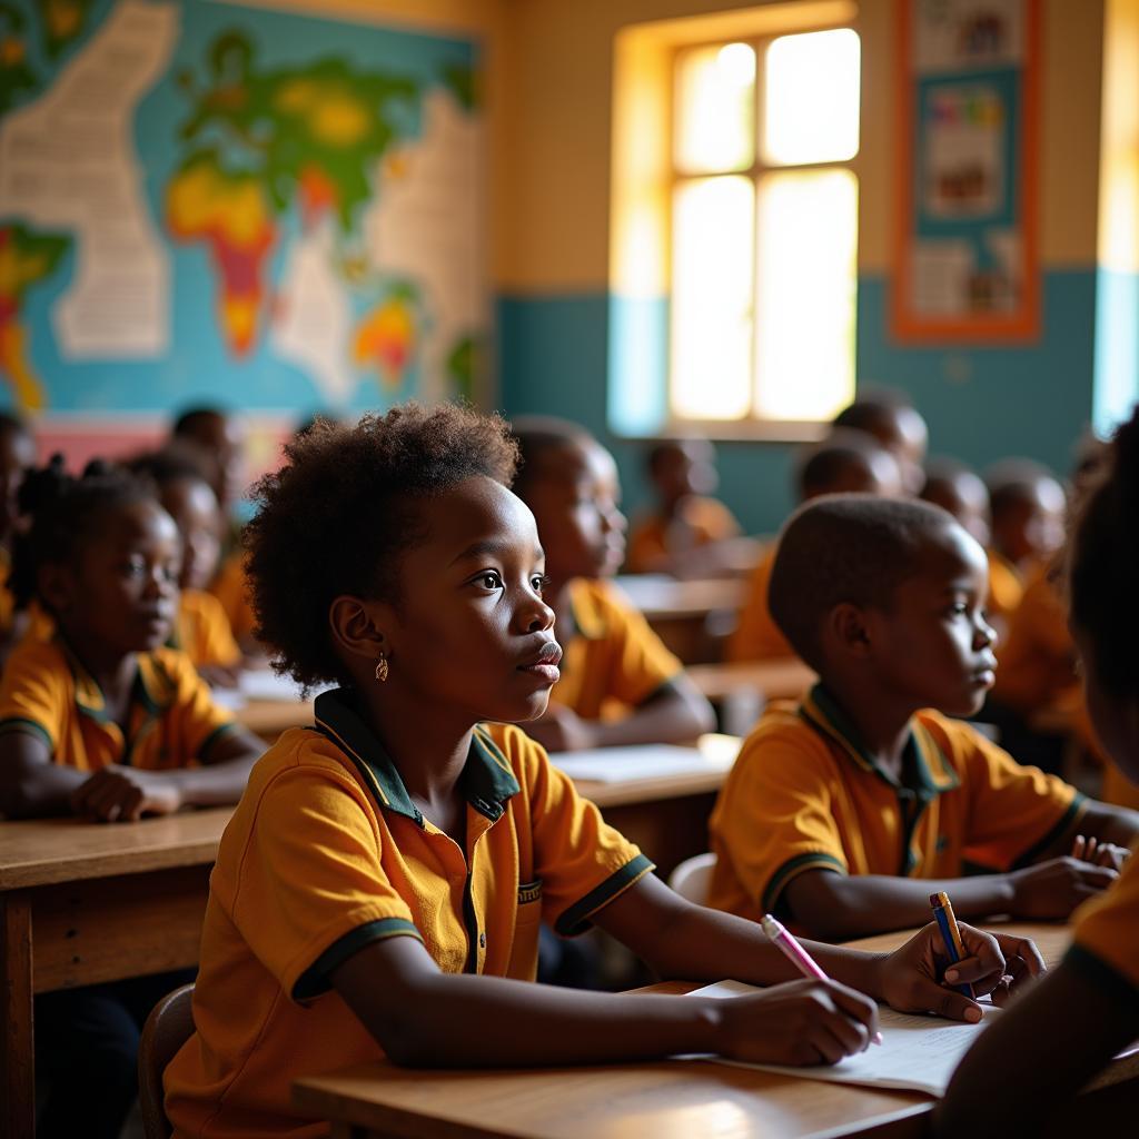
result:
[[[557,585],[572,577],[608,577],[625,556],[625,517],[613,456],[592,440],[542,457],[527,491]]]

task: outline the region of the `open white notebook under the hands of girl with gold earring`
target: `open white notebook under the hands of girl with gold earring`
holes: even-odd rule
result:
[[[739,997],[744,993],[762,992],[754,985],[740,981],[720,981],[705,985],[689,995],[693,997]],[[830,1083],[862,1083],[872,1088],[906,1088],[925,1091],[931,1096],[942,1096],[949,1087],[950,1077],[969,1046],[984,1031],[985,1025],[1000,1010],[992,1005],[982,1005],[985,1015],[980,1024],[959,1024],[933,1016],[910,1016],[895,1013],[892,1008],[879,1007],[878,1025],[882,1029],[880,1047],[870,1046],[858,1056],[847,1056],[831,1067],[784,1067],[778,1064],[745,1064],[719,1056],[700,1057],[734,1067],[754,1067],[763,1072],[780,1072],[808,1080],[826,1080]],[[1133,1046],[1121,1056],[1139,1051]]]

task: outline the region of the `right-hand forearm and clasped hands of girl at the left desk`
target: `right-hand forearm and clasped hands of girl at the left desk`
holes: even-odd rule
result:
[[[214,740],[199,768],[145,771],[113,763],[75,790],[72,810],[103,822],[134,822],[144,814],[172,814],[183,806],[236,803],[264,749],[238,724]]]

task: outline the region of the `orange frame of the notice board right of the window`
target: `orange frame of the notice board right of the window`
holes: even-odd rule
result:
[[[1013,171],[1013,220],[1019,238],[1021,287],[1013,309],[960,316],[921,313],[913,305],[912,249],[917,230],[915,187],[915,120],[919,113],[913,60],[913,8],[921,0],[895,0],[898,30],[898,159],[894,213],[891,318],[894,336],[909,343],[1013,343],[1031,341],[1040,331],[1039,265],[1039,131],[1040,131],[1040,0],[1023,6],[1023,57],[1018,68],[1018,122],[1013,125],[1017,159]],[[1006,65],[1007,66],[1007,65]],[[968,73],[959,76],[968,82]]]

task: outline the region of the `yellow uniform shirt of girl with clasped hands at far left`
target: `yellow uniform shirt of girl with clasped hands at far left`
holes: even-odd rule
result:
[[[170,648],[138,654],[125,735],[108,718],[98,683],[58,636],[25,637],[0,682],[0,734],[39,735],[52,762],[81,771],[108,763],[187,767],[232,726],[186,654]]]

